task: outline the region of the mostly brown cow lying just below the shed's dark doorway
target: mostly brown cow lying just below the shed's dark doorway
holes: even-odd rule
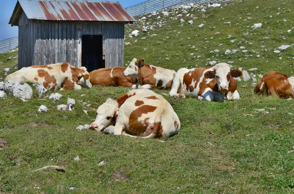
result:
[[[90,82],[98,86],[127,86],[136,88],[137,79],[124,76],[126,67],[100,68],[90,72]]]

